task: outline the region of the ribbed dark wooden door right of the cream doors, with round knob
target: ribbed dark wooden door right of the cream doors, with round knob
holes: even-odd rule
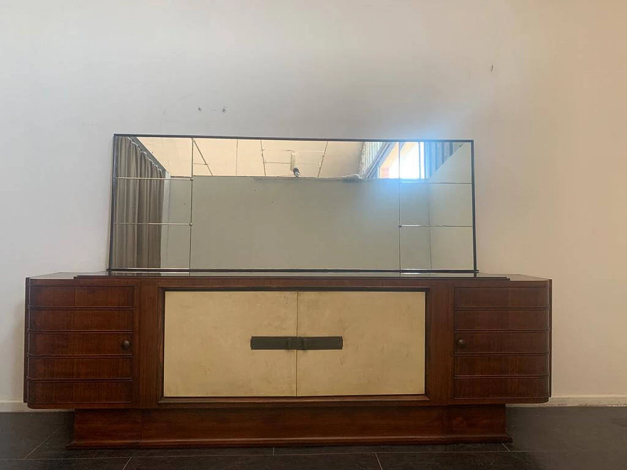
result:
[[[548,399],[547,288],[455,288],[454,315],[454,399]]]

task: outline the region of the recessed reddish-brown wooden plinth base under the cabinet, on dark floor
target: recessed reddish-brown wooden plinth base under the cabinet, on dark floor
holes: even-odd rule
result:
[[[76,410],[69,447],[509,442],[505,405]]]

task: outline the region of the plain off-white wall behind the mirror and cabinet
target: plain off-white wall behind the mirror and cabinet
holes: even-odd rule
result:
[[[24,276],[105,267],[113,132],[475,138],[480,268],[554,279],[554,394],[627,395],[626,16],[4,0],[0,400],[21,400]]]

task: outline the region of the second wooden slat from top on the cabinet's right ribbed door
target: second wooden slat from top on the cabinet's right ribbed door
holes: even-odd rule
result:
[[[549,311],[456,310],[455,330],[548,330]]]

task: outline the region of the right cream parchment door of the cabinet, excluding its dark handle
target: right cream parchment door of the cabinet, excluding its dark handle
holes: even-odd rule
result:
[[[423,292],[298,292],[298,335],[342,350],[298,351],[297,395],[424,394]]]

